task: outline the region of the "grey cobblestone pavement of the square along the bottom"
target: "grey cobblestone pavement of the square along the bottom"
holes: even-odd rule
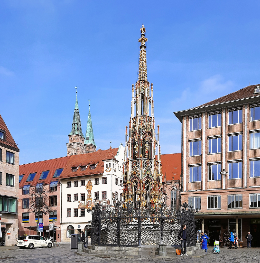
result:
[[[220,254],[212,254],[202,258],[191,257],[175,257],[173,259],[123,259],[123,258],[107,258],[107,257],[91,257],[78,256],[74,252],[76,249],[70,249],[69,244],[63,244],[62,247],[48,248],[33,248],[33,249],[10,249],[0,251],[0,262],[2,263],[75,263],[75,262],[88,262],[88,263],[146,263],[152,261],[153,263],[258,263],[260,248],[238,248],[227,249],[226,247],[220,248]],[[211,251],[210,247],[209,250]]]

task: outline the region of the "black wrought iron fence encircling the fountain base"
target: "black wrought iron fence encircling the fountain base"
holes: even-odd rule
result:
[[[88,211],[90,212],[90,210]],[[186,225],[187,245],[196,243],[194,210],[186,203],[177,211],[160,209],[140,209],[119,202],[115,208],[110,205],[102,210],[96,204],[91,221],[91,244],[111,246],[146,246],[164,243],[180,245],[178,231]]]

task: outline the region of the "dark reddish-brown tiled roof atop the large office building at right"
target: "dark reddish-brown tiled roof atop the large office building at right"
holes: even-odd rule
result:
[[[218,99],[212,100],[212,101],[207,102],[205,104],[202,104],[198,107],[208,106],[208,105],[213,105],[213,104],[218,104],[218,103],[223,103],[223,102],[229,102],[232,100],[246,99],[246,98],[250,98],[250,97],[259,96],[260,95],[259,93],[254,94],[254,89],[257,86],[260,86],[260,84],[247,86],[243,89],[239,89],[235,92],[232,92],[232,93],[225,95],[223,97],[220,97]],[[197,107],[195,107],[195,108],[197,108]]]

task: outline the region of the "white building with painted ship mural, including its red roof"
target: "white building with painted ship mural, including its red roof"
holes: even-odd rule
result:
[[[123,201],[124,147],[71,156],[60,175],[60,225],[62,242],[71,234],[91,232],[91,210],[96,203],[106,209]],[[90,213],[88,213],[88,210]]]

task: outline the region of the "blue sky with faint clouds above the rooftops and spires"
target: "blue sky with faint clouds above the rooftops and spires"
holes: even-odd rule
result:
[[[259,1],[0,1],[0,113],[20,164],[67,155],[75,86],[83,133],[125,141],[140,27],[161,153],[181,151],[174,111],[260,83]]]

